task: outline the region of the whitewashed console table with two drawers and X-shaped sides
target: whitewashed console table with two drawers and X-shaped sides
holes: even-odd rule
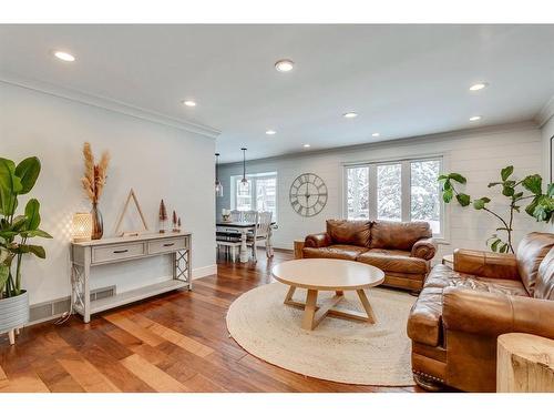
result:
[[[98,312],[177,288],[192,288],[191,233],[144,234],[71,244],[71,303],[85,323]],[[96,265],[170,255],[173,278],[91,302],[91,268]]]

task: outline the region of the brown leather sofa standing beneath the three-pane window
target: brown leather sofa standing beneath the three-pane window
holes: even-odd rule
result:
[[[296,252],[370,264],[384,272],[384,285],[419,292],[435,251],[427,222],[328,220],[327,232],[308,235]]]

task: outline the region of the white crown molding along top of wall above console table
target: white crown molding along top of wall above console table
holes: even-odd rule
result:
[[[220,131],[208,125],[194,123],[186,120],[175,119],[153,110],[142,109],[121,101],[107,99],[100,95],[83,93],[75,90],[64,89],[42,81],[24,79],[21,77],[0,73],[0,82],[4,84],[24,88],[27,90],[38,91],[48,95],[53,95],[81,104],[96,106],[103,110],[113,111],[152,123],[168,125],[175,129],[184,130],[191,133],[204,135],[209,139],[216,139]]]

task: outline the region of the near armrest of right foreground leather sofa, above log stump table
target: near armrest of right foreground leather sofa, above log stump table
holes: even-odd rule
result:
[[[447,333],[458,331],[497,337],[521,332],[554,338],[552,316],[553,301],[460,287],[445,287],[442,295]]]

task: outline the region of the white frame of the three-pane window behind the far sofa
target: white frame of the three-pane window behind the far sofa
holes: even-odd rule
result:
[[[448,154],[428,154],[421,156],[413,158],[399,158],[399,159],[378,159],[378,160],[368,160],[368,161],[359,161],[359,162],[345,162],[342,163],[342,219],[348,219],[348,169],[351,168],[368,168],[368,180],[369,180],[369,219],[377,219],[377,166],[379,165],[388,165],[388,164],[401,164],[401,190],[402,190],[402,199],[401,199],[401,221],[411,221],[411,163],[413,162],[425,162],[425,161],[439,161],[440,162],[440,172],[444,172],[445,164],[448,163]],[[449,232],[449,210],[447,209],[447,204],[442,199],[440,199],[440,226],[441,233],[434,234],[433,239],[435,239],[439,243],[448,244],[448,240],[450,237]]]

